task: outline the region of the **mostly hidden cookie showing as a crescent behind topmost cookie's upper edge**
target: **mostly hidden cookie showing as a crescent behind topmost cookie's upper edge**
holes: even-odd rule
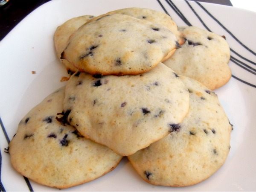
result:
[[[145,9],[145,8],[138,8],[138,7],[131,7],[125,9],[118,9],[111,12],[106,13],[105,15],[109,14],[122,14],[122,15],[130,15],[132,17],[136,17],[137,19],[148,20],[152,23],[157,23],[167,27],[176,37],[177,41],[180,45],[182,45],[184,41],[184,35],[178,31],[177,24],[172,17],[167,15],[166,13],[156,11],[153,9]],[[101,17],[101,16],[98,16]],[[92,20],[96,20],[97,17],[93,18]],[[92,21],[89,20],[88,22]]]

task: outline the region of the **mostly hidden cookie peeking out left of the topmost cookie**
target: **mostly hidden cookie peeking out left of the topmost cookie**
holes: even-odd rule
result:
[[[70,35],[72,35],[76,30],[86,23],[88,20],[93,18],[92,15],[83,15],[80,17],[74,17],[70,20],[67,20],[65,23],[61,24],[57,27],[54,33],[54,45],[57,53],[57,57],[61,58],[61,53],[67,47],[67,43]],[[76,72],[76,67],[73,64],[70,64],[67,60],[61,59],[61,63],[63,63],[67,69],[69,74],[73,74]]]

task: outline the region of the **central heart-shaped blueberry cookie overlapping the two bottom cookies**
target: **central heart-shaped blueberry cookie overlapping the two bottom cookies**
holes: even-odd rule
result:
[[[73,74],[63,114],[84,137],[126,156],[169,134],[188,108],[188,90],[160,63],[137,76]]]

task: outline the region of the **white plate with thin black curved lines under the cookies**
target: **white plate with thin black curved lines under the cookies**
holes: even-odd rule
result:
[[[255,12],[184,0],[52,0],[22,20],[0,42],[0,188],[2,191],[59,191],[26,180],[11,166],[4,148],[20,119],[67,76],[58,61],[53,34],[64,21],[125,7],[168,12],[178,26],[189,23],[225,35],[231,49],[231,80],[215,90],[234,130],[224,165],[209,179],[185,188],[153,186],[126,158],[112,172],[62,191],[255,191],[256,190],[256,38]],[[187,19],[189,23],[184,22]],[[236,61],[238,60],[238,61]],[[35,71],[36,74],[32,74]]]

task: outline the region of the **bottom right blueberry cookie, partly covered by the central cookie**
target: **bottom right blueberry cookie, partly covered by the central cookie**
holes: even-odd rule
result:
[[[217,95],[194,79],[180,76],[190,95],[189,112],[176,130],[128,156],[148,183],[190,186],[215,173],[230,151],[229,123]]]

